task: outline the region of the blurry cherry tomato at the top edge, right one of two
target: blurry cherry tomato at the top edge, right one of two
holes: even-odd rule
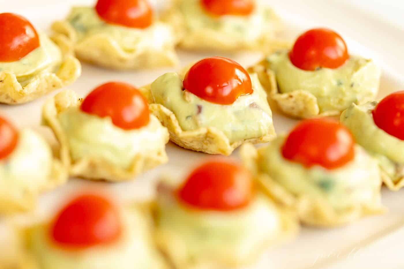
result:
[[[254,0],[201,0],[204,8],[213,15],[247,16],[255,9]]]

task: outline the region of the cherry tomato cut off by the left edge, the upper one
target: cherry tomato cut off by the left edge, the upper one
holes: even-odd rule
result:
[[[34,26],[12,13],[0,14],[0,37],[0,62],[18,61],[40,46]]]

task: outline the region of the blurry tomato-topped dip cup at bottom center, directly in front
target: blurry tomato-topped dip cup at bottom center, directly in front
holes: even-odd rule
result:
[[[298,231],[294,214],[255,188],[237,164],[210,161],[177,187],[157,188],[156,240],[175,268],[213,269],[254,263],[268,247]]]

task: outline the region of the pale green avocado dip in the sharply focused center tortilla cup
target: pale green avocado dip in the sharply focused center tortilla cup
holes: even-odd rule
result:
[[[205,101],[183,90],[178,74],[167,73],[151,84],[154,102],[173,111],[182,130],[215,127],[230,143],[262,137],[272,126],[272,112],[256,74],[250,74],[253,93],[242,95],[231,105]]]

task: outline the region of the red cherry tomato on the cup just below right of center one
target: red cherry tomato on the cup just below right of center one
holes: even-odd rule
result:
[[[303,120],[290,132],[282,155],[305,167],[320,165],[327,169],[344,166],[354,153],[354,140],[347,128],[331,119]]]

